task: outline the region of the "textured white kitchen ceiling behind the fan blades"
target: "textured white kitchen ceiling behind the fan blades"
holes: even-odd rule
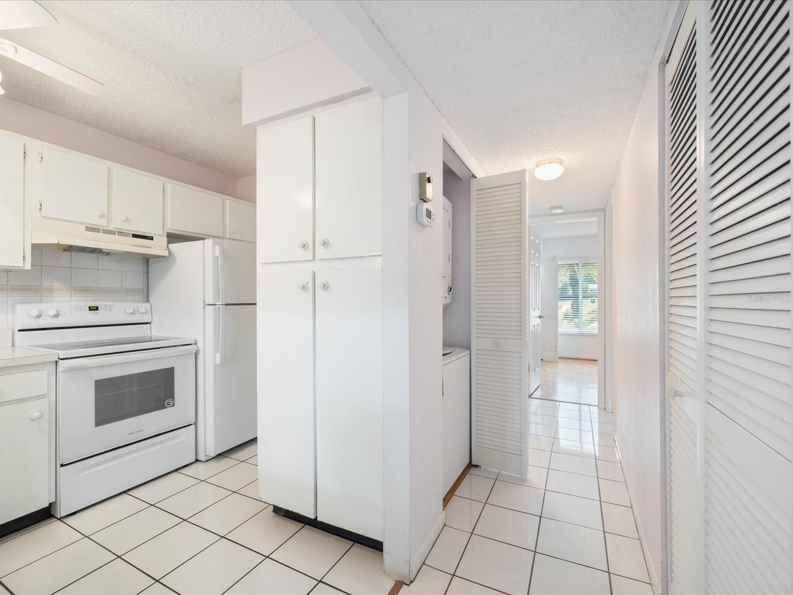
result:
[[[255,174],[240,69],[316,33],[286,2],[42,0],[59,21],[3,37],[104,83],[91,97],[0,56],[6,96],[235,178]]]

